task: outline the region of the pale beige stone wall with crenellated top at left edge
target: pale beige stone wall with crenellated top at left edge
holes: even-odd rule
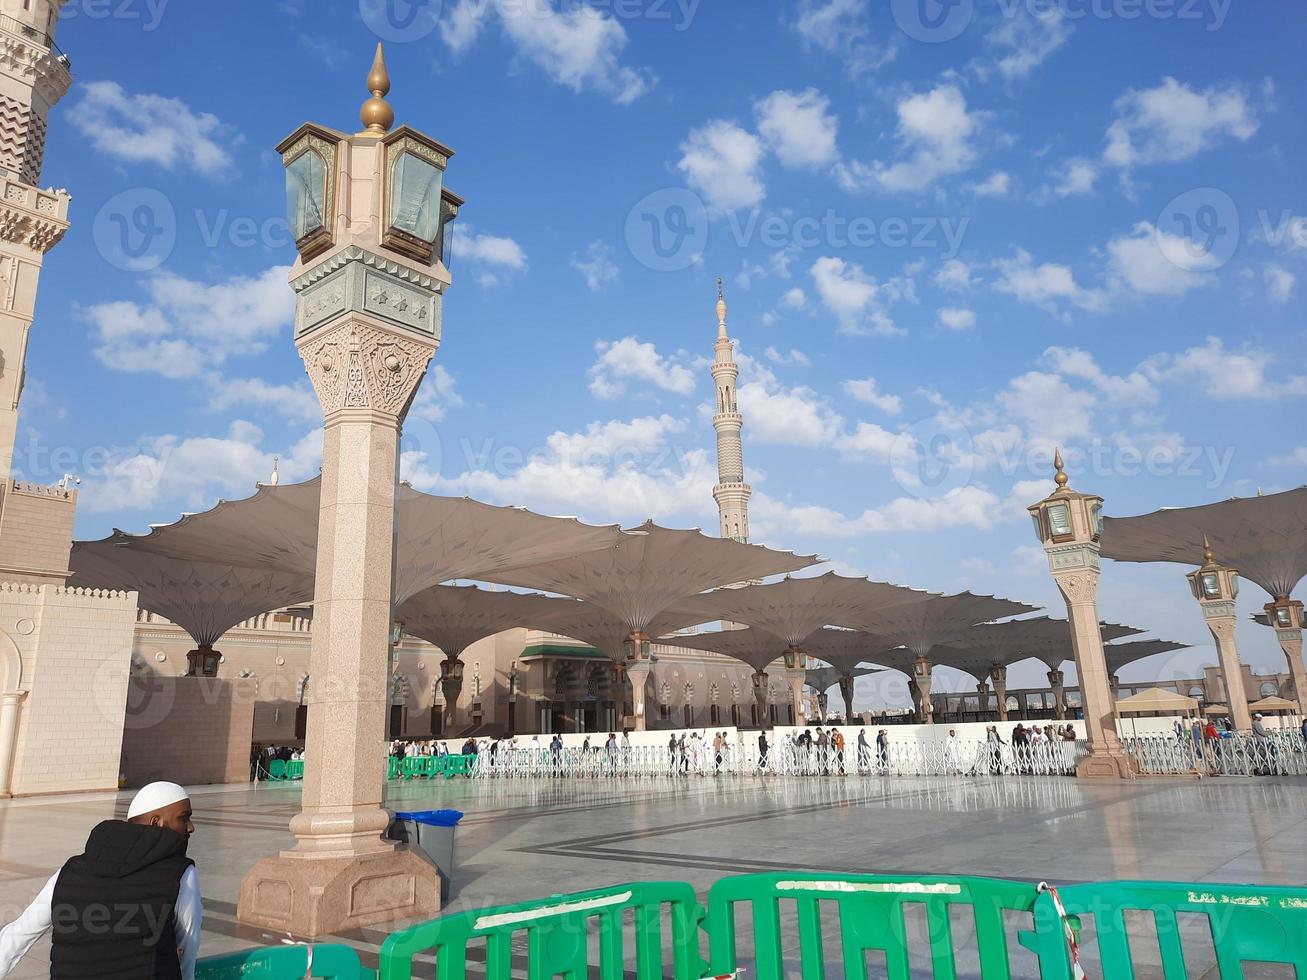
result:
[[[135,623],[135,592],[0,585],[26,693],[14,796],[116,788]]]

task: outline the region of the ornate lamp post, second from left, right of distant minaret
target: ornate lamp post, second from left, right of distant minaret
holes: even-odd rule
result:
[[[1128,777],[1132,763],[1116,737],[1112,693],[1107,682],[1107,656],[1098,622],[1099,536],[1103,498],[1081,494],[1068,486],[1059,451],[1053,490],[1027,510],[1035,536],[1048,555],[1048,568],[1067,601],[1070,642],[1076,655],[1089,757],[1076,775],[1082,777]]]

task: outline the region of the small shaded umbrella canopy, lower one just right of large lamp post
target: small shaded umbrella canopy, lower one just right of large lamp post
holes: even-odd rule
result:
[[[516,626],[541,629],[572,600],[535,593],[493,592],[476,585],[433,585],[401,602],[395,619],[404,631],[457,657],[480,639]]]

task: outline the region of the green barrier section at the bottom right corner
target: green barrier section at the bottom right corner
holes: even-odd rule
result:
[[[1084,925],[1082,917],[1093,916],[1094,938],[1102,960],[1100,975],[1111,980],[1134,980],[1140,975],[1127,932],[1127,913],[1131,911],[1153,917],[1157,929],[1153,949],[1161,955],[1165,980],[1185,980],[1209,966],[1185,960],[1178,913],[1206,919],[1209,934],[1200,937],[1191,926],[1189,937],[1195,941],[1191,960],[1199,958],[1199,949],[1195,947],[1205,947],[1205,956],[1214,949],[1222,980],[1243,980],[1242,963],[1249,960],[1289,963],[1297,976],[1307,977],[1307,889],[1125,881],[1073,885],[1059,889],[1057,898],[1077,933]],[[1035,924],[1044,979],[1072,980],[1070,953],[1052,895],[1040,896]],[[1208,933],[1206,929],[1201,932]],[[1134,953],[1142,954],[1145,942],[1138,926],[1136,942],[1140,949]],[[1149,937],[1146,945],[1151,943]],[[1204,972],[1202,976],[1210,973]]]

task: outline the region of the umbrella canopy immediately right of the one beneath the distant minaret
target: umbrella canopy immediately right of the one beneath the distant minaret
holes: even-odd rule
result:
[[[702,601],[721,619],[748,623],[789,645],[804,647],[809,636],[830,623],[848,622],[931,597],[929,592],[902,585],[826,572],[812,578],[787,575],[770,584],[716,589],[703,596]]]

